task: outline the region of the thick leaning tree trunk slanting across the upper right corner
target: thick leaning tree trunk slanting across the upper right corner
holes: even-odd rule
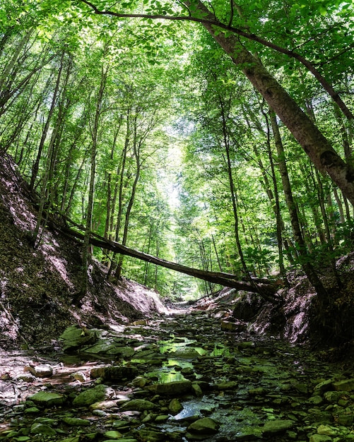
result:
[[[99,15],[143,17],[149,20],[164,18],[167,20],[189,20],[201,23],[216,42],[220,44],[220,47],[231,57],[235,65],[239,66],[254,88],[264,97],[269,107],[283,121],[283,124],[288,127],[315,167],[320,172],[327,172],[341,191],[343,191],[346,198],[354,204],[353,167],[343,161],[341,156],[331,146],[331,143],[319,131],[317,126],[313,124],[311,119],[307,117],[295,100],[290,97],[288,92],[285,91],[271,73],[264,68],[259,59],[252,55],[242,44],[240,38],[237,37],[237,34],[240,35],[240,32],[237,32],[230,25],[234,16],[233,6],[228,11],[228,14],[225,14],[223,6],[220,10],[221,15],[229,16],[228,24],[225,24],[216,16],[218,13],[217,6],[213,10],[215,12],[211,12],[200,0],[184,1],[183,4],[187,9],[187,15],[179,16],[167,15],[167,12],[173,12],[173,8],[169,4],[158,4],[155,6],[155,11],[151,9],[151,13],[122,13],[112,11],[111,7],[106,9],[106,2],[102,5],[102,9],[100,5],[95,6],[94,3],[87,0],[81,0],[81,3],[87,4],[93,9],[94,13]],[[132,6],[131,4],[128,5]],[[163,11],[167,12],[163,13]]]

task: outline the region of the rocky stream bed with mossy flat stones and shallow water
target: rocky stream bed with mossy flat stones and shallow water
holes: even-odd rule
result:
[[[354,375],[193,309],[2,352],[0,441],[354,441]]]

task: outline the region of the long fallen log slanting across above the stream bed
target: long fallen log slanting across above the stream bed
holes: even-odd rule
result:
[[[83,226],[78,225],[71,220],[69,220],[69,222],[71,222],[73,225],[78,227],[78,229],[81,229],[81,231],[84,232],[85,229]],[[58,225],[55,222],[52,222],[52,227],[66,234],[66,236],[79,239],[80,241],[83,241],[85,237],[82,232],[78,232],[77,230],[64,225]],[[148,253],[143,253],[141,251],[130,249],[129,247],[123,246],[122,244],[119,244],[115,241],[110,241],[108,239],[100,237],[94,232],[90,232],[90,244],[96,247],[100,247],[101,249],[113,251],[115,253],[121,253],[122,255],[131,256],[132,258],[137,258],[141,261],[146,261],[148,263],[160,265],[161,267],[170,268],[171,270],[175,270],[176,272],[197,277],[201,280],[223,285],[224,287],[231,287],[237,290],[244,290],[246,292],[259,293],[261,294],[261,296],[266,297],[267,299],[271,298],[274,300],[276,291],[279,288],[278,285],[275,285],[273,284],[273,282],[266,281],[264,279],[262,280],[262,282],[254,282],[252,280],[240,281],[238,280],[237,276],[230,273],[210,272],[208,270],[200,270],[198,268],[187,267],[187,265],[181,265],[173,263],[171,261],[166,261],[165,259],[157,258],[156,256],[149,255]]]

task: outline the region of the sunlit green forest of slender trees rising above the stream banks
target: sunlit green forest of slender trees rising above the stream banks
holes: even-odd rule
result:
[[[320,310],[353,294],[351,1],[2,0],[0,25],[0,150],[33,246],[53,220],[82,239],[77,301],[92,257],[170,299],[220,288],[105,241],[261,295],[303,272]]]

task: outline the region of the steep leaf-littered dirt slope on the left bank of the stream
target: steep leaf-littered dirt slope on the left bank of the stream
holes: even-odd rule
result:
[[[0,346],[50,342],[67,325],[88,327],[135,321],[165,307],[158,295],[123,280],[114,286],[96,263],[88,296],[72,305],[80,287],[80,247],[47,230],[34,249],[36,211],[8,155],[0,156]]]

